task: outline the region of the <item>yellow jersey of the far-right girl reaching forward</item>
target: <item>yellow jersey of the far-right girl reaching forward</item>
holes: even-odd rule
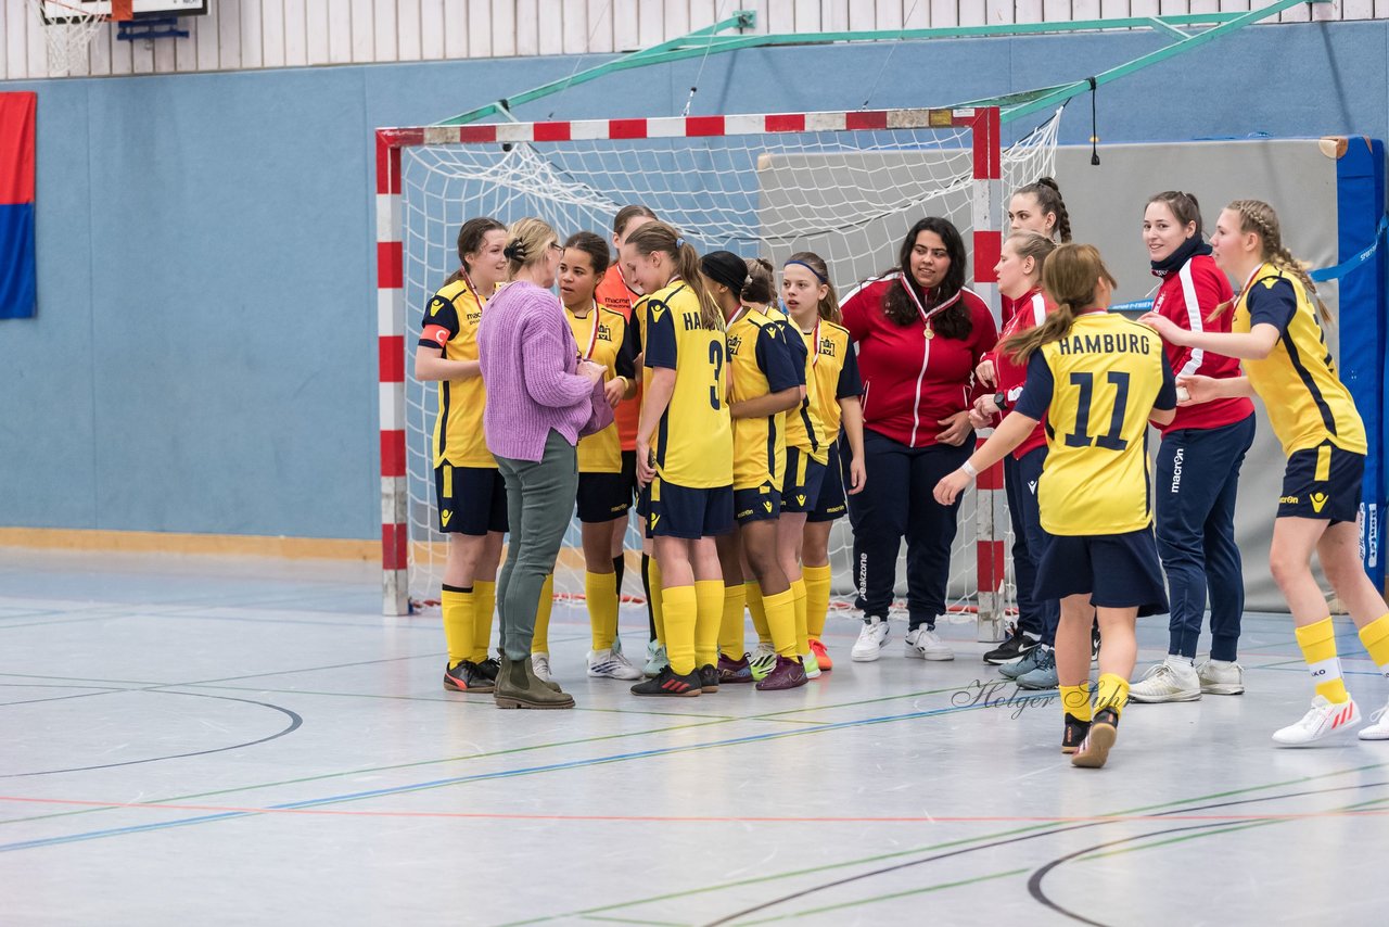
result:
[[[1268,409],[1268,421],[1283,454],[1331,442],[1342,450],[1367,452],[1365,425],[1317,321],[1317,307],[1301,281],[1264,264],[1235,303],[1233,332],[1274,325],[1278,343],[1263,360],[1245,360],[1249,385]]]

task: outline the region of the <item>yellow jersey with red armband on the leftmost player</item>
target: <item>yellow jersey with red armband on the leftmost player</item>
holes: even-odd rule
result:
[[[419,345],[438,347],[444,360],[478,360],[478,325],[483,302],[465,281],[444,284],[425,307]],[[482,434],[488,391],[482,377],[439,381],[439,416],[433,431],[433,466],[496,467]]]

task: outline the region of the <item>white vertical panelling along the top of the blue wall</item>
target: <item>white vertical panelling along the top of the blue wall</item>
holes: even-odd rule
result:
[[[757,11],[757,32],[920,29],[1236,13],[1264,0],[210,0],[188,39],[117,42],[97,32],[72,76],[233,71],[629,51]],[[50,76],[44,26],[22,0],[0,4],[0,78]],[[1389,0],[1286,10],[1283,22],[1386,19]],[[57,75],[53,75],[57,76]]]

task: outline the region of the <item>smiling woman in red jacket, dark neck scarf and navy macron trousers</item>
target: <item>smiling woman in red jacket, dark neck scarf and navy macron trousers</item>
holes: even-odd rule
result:
[[[1158,193],[1143,213],[1143,243],[1163,284],[1153,311],[1188,331],[1228,332],[1233,313],[1211,320],[1231,300],[1229,279],[1201,238],[1201,214],[1190,193]],[[1239,377],[1239,361],[1211,352],[1165,346],[1178,377]],[[1201,694],[1238,695],[1243,670],[1235,663],[1245,577],[1235,545],[1235,493],[1239,467],[1254,441],[1254,404],[1245,397],[1178,406],[1161,428],[1154,468],[1153,513],[1157,550],[1171,599],[1168,656],[1133,685],[1135,702],[1189,702]],[[1211,609],[1210,660],[1200,667],[1196,642],[1206,599]]]

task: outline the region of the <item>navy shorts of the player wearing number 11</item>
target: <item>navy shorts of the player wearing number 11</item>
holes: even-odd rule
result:
[[[1167,584],[1153,527],[1128,534],[1047,535],[1038,561],[1038,602],[1090,593],[1107,609],[1132,609],[1139,617],[1167,613]]]

